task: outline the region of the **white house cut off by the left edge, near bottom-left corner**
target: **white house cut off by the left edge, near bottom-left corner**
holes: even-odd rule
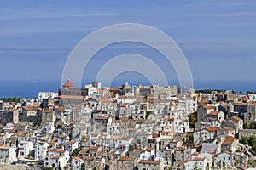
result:
[[[12,163],[16,159],[15,148],[5,145],[0,145],[0,162]]]

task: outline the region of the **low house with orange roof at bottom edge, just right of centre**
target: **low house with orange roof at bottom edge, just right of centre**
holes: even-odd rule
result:
[[[141,160],[138,162],[139,170],[164,170],[163,161]]]

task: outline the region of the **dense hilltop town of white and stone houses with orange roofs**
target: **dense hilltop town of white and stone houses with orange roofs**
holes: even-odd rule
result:
[[[256,167],[256,94],[70,80],[0,101],[0,162],[26,169]],[[0,167],[1,168],[1,167]]]

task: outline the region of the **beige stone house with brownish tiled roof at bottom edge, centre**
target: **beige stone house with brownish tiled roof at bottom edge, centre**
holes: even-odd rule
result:
[[[135,169],[137,166],[137,158],[135,157],[119,157],[117,161],[117,168],[120,170]]]

